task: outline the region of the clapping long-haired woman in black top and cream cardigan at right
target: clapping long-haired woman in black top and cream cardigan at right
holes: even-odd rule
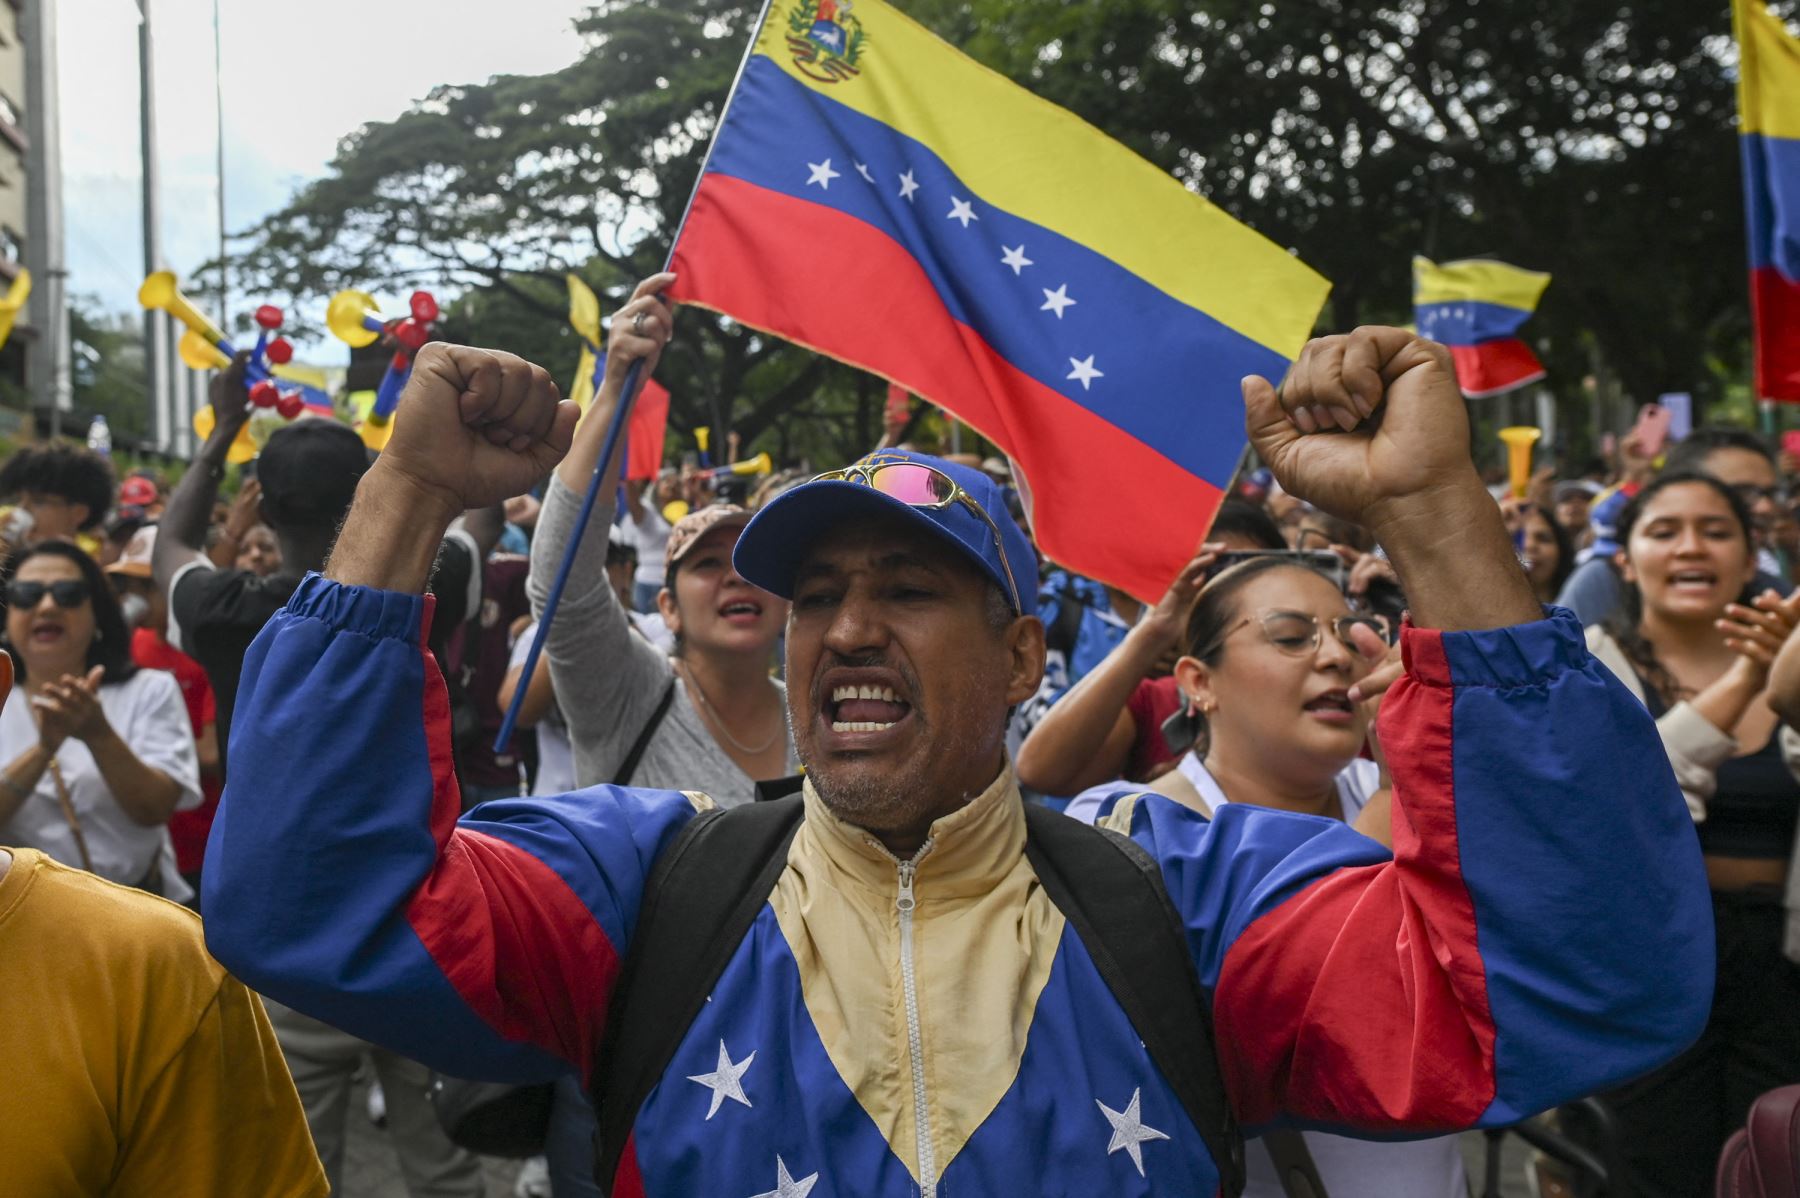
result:
[[[1800,964],[1782,955],[1800,781],[1768,689],[1800,597],[1757,588],[1750,507],[1712,475],[1661,475],[1625,507],[1618,534],[1624,606],[1588,630],[1588,644],[1656,716],[1688,799],[1712,881],[1717,977],[1699,1043],[1611,1101],[1633,1193],[1696,1194],[1751,1099],[1800,1083]]]

